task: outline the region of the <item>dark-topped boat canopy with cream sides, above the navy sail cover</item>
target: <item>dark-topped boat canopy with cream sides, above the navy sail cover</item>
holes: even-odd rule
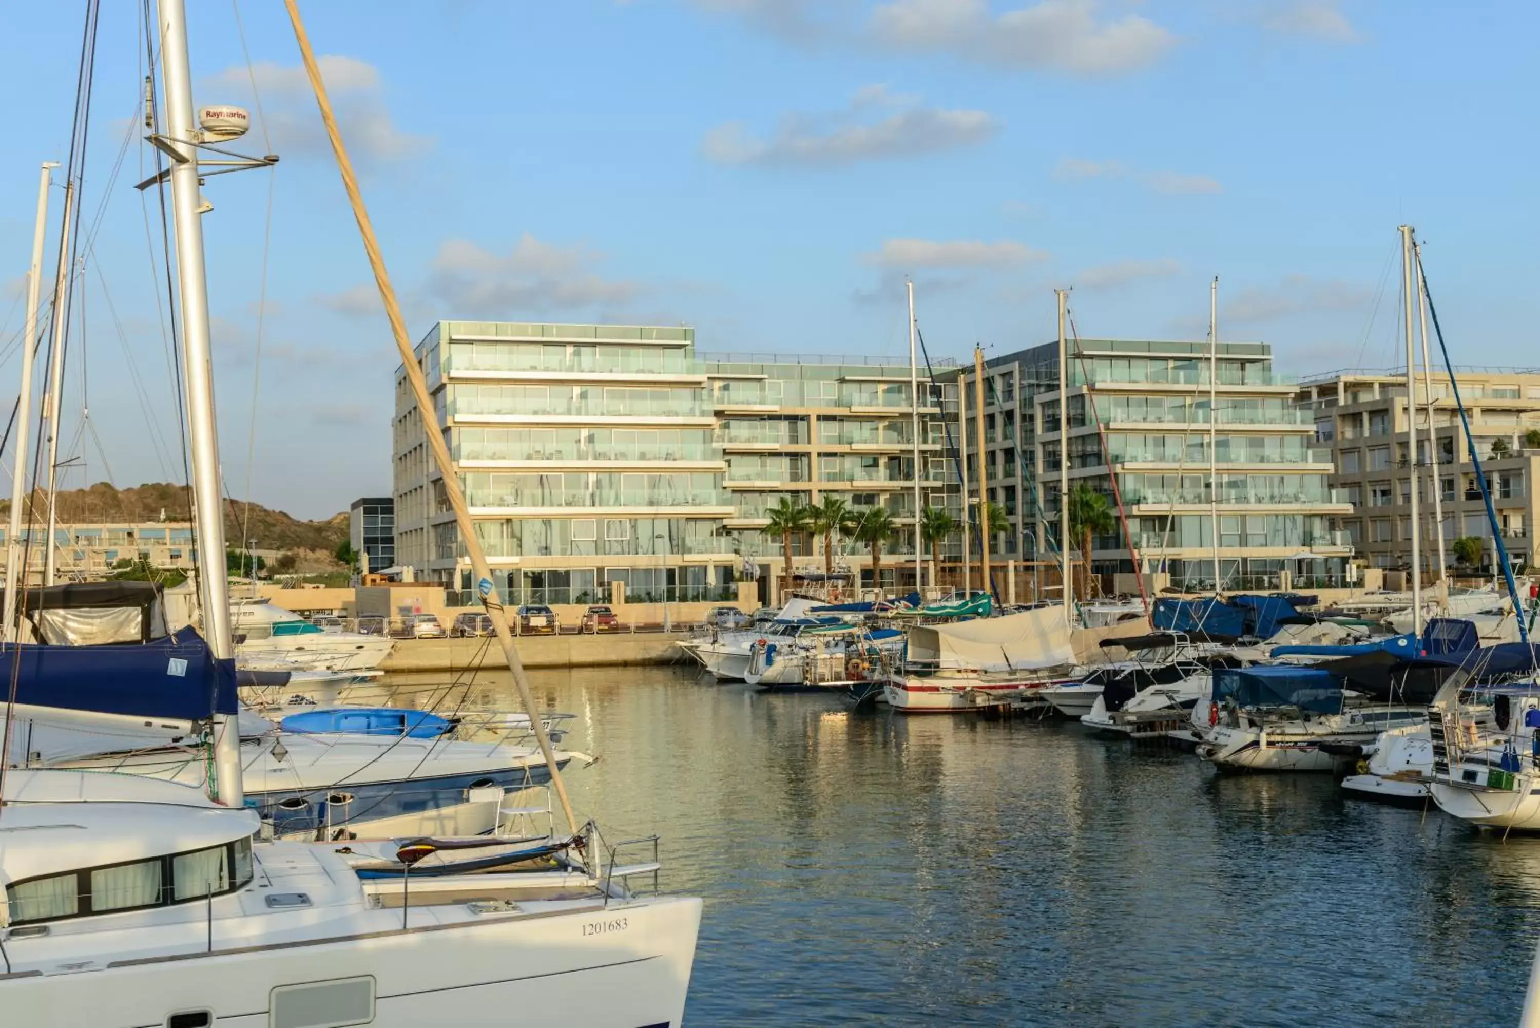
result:
[[[71,583],[28,589],[22,600],[38,643],[102,646],[165,638],[166,607],[160,583]]]

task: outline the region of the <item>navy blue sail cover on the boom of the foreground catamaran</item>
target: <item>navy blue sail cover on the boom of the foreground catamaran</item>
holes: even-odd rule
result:
[[[0,689],[65,711],[199,721],[236,714],[236,661],[214,660],[192,629],[126,646],[20,644],[0,649]]]

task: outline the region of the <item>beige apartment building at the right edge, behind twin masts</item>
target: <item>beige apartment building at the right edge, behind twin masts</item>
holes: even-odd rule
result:
[[[1534,527],[1540,512],[1529,484],[1540,470],[1540,447],[1531,445],[1526,435],[1537,432],[1534,441],[1540,442],[1540,371],[1461,370],[1457,381],[1503,544],[1514,561],[1534,564]],[[1446,552],[1460,536],[1483,539],[1483,566],[1489,566],[1495,553],[1491,522],[1448,376],[1431,376],[1432,456],[1428,450],[1428,391],[1418,384],[1412,418],[1417,427],[1420,535],[1426,543],[1423,570],[1437,573],[1435,532],[1443,536]],[[1312,376],[1301,382],[1298,401],[1314,418],[1315,445],[1332,450],[1332,487],[1354,507],[1351,513],[1338,515],[1338,527],[1372,567],[1409,567],[1412,473],[1404,368]],[[1431,472],[1438,479],[1437,509],[1428,484]],[[1443,515],[1441,522],[1437,521],[1438,513]],[[1446,559],[1454,569],[1452,552]]]

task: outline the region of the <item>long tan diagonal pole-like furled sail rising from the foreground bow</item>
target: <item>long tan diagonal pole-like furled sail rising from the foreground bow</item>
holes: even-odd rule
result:
[[[422,373],[422,367],[417,364],[417,354],[413,350],[411,339],[407,338],[407,321],[400,313],[400,304],[396,299],[396,288],[390,282],[390,273],[385,268],[385,257],[380,254],[379,240],[374,237],[374,225],[370,220],[368,208],[363,207],[363,194],[359,191],[359,180],[353,174],[353,160],[348,157],[348,149],[342,143],[342,133],[337,128],[337,119],[331,111],[326,85],[320,79],[320,68],[316,65],[316,54],[310,48],[310,35],[305,34],[305,23],[300,20],[296,0],[283,0],[283,6],[288,9],[290,22],[294,26],[294,42],[299,43],[299,52],[305,62],[305,77],[310,79],[310,88],[316,94],[316,105],[320,108],[320,120],[326,126],[326,137],[331,140],[331,149],[337,157],[337,171],[342,174],[342,185],[348,193],[348,203],[353,207],[353,216],[359,223],[359,234],[363,237],[363,250],[368,254],[370,268],[374,271],[374,282],[379,287],[380,299],[385,305],[385,316],[390,319],[391,334],[396,339],[396,350],[399,351],[402,361],[402,370],[407,375],[413,399],[417,404],[417,416],[422,419],[422,432],[427,436],[425,441],[428,444],[428,452],[433,453],[433,461],[439,469],[439,475],[442,475],[445,499],[448,499],[450,509],[454,510],[454,526],[459,529],[460,543],[465,546],[465,552],[471,561],[471,569],[476,573],[477,592],[482,596],[482,604],[491,620],[493,630],[497,633],[497,643],[502,647],[502,655],[508,661],[513,684],[519,690],[519,701],[524,704],[525,714],[530,715],[530,727],[534,731],[534,741],[539,743],[541,755],[545,758],[545,768],[551,775],[551,788],[556,792],[556,798],[562,805],[562,814],[567,817],[568,828],[576,835],[578,817],[573,814],[571,800],[567,795],[567,786],[562,781],[562,772],[556,763],[556,751],[551,747],[551,737],[545,731],[541,712],[534,706],[534,692],[530,689],[528,675],[524,674],[524,661],[519,660],[519,650],[513,644],[513,632],[508,630],[507,612],[504,610],[502,600],[497,595],[497,587],[493,583],[491,567],[487,564],[487,553],[482,549],[480,536],[476,535],[476,526],[471,521],[470,509],[465,506],[465,493],[460,490],[459,469],[454,467],[454,459],[450,456],[450,447],[444,441],[444,425],[439,424],[437,415],[434,413],[433,398],[428,393],[428,381]]]

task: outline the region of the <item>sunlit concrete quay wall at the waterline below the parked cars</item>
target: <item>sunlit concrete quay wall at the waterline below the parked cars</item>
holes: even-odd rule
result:
[[[676,643],[684,632],[614,632],[613,635],[524,635],[517,640],[525,667],[610,667],[671,664],[687,660]],[[477,655],[480,655],[477,658]],[[380,670],[465,670],[473,663],[504,669],[494,638],[396,640]]]

